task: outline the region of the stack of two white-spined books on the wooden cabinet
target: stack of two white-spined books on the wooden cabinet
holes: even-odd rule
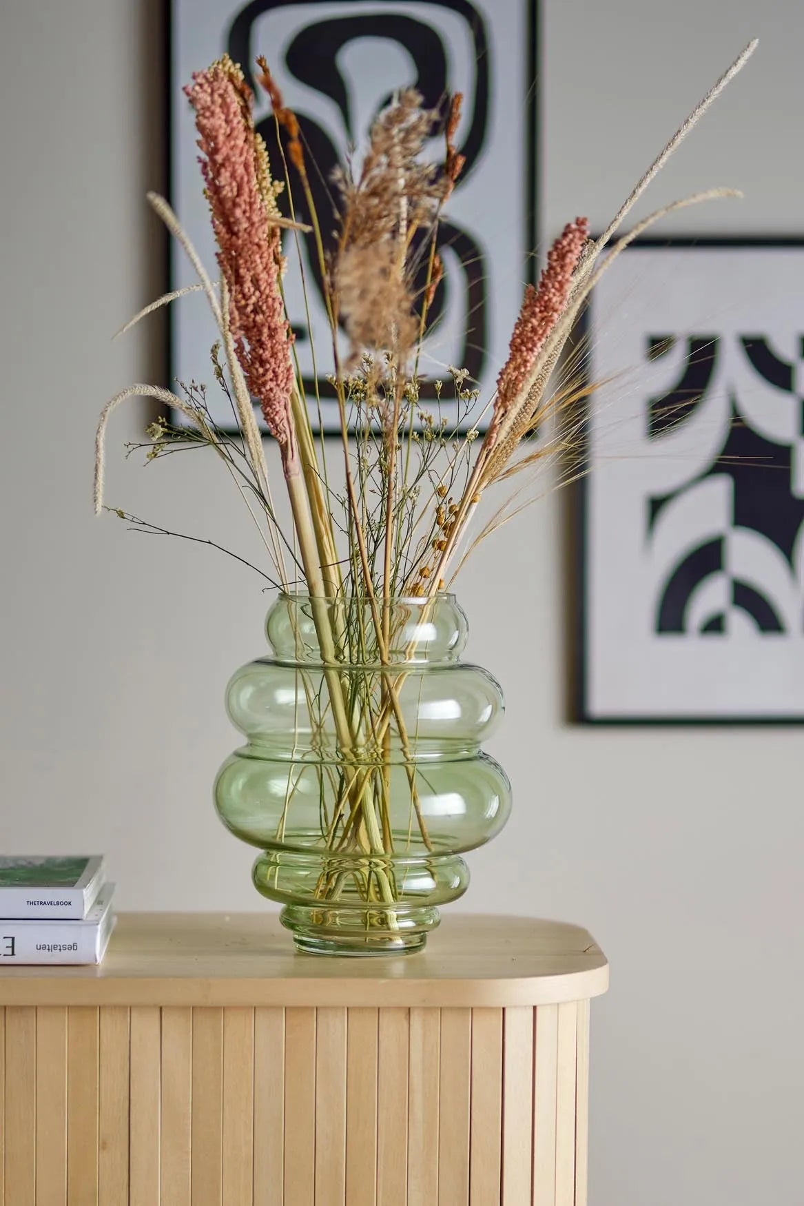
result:
[[[113,891],[100,855],[0,855],[0,974],[14,964],[99,964]]]

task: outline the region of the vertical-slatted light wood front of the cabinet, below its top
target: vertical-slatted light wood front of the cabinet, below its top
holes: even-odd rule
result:
[[[0,1206],[586,1206],[588,1001],[8,1006]]]

